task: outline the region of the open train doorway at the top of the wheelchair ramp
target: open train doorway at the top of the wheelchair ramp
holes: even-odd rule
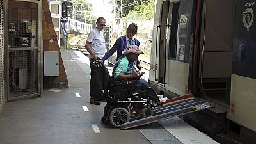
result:
[[[230,103],[235,3],[234,0],[205,0],[199,32],[197,93],[227,108]]]

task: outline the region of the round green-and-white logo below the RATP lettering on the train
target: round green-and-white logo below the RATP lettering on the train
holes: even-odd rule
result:
[[[242,13],[243,15],[243,23],[247,31],[250,31],[250,26],[252,26],[253,19],[254,19],[254,12],[252,8],[247,8],[245,12]]]

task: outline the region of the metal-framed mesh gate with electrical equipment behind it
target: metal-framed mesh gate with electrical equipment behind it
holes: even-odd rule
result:
[[[8,1],[8,101],[40,95],[40,1]]]

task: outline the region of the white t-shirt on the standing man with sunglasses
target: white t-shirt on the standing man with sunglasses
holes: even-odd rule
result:
[[[98,56],[99,58],[103,58],[106,48],[103,32],[99,31],[99,29],[97,28],[92,29],[92,31],[90,31],[88,35],[87,41],[92,43],[91,46],[94,54],[96,54],[96,56]],[[89,58],[93,58],[91,54]]]

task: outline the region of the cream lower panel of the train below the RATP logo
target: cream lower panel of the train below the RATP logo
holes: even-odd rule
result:
[[[232,74],[227,118],[256,131],[256,80]]]

